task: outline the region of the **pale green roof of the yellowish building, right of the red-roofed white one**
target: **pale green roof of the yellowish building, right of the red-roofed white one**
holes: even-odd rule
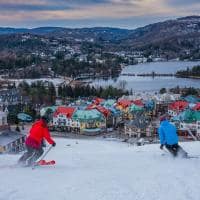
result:
[[[73,114],[72,119],[79,121],[89,120],[104,120],[104,116],[96,109],[93,110],[76,110]]]

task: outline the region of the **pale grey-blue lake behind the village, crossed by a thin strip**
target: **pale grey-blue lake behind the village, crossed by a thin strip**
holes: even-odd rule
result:
[[[184,61],[169,61],[169,62],[152,62],[142,63],[137,65],[130,65],[125,67],[123,73],[175,73],[178,70],[192,68],[195,65],[200,65],[200,61],[197,62],[184,62]],[[120,75],[115,79],[88,79],[91,81],[91,85],[108,86],[113,85],[120,87],[122,82],[126,82],[125,88],[133,91],[159,91],[161,88],[173,88],[179,87],[195,87],[200,88],[200,79],[186,79],[176,77],[139,77],[139,76],[122,76]]]

